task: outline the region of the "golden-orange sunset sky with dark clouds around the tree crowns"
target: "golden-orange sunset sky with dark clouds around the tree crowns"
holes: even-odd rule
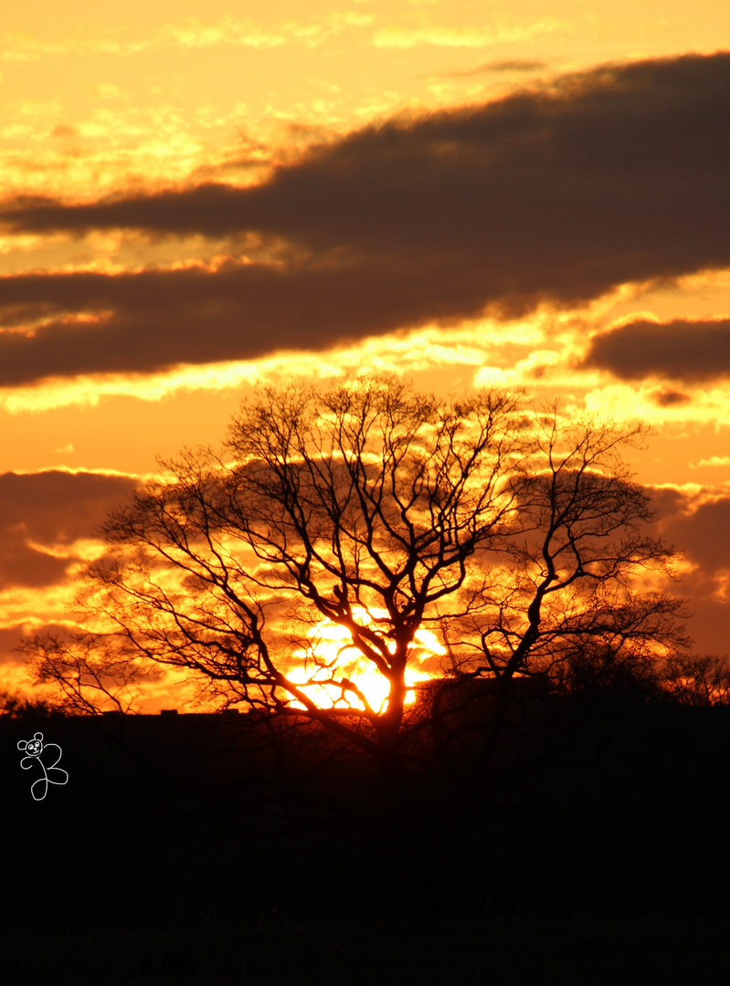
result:
[[[651,425],[730,650],[728,4],[4,0],[0,35],[6,687],[156,456],[364,369]]]

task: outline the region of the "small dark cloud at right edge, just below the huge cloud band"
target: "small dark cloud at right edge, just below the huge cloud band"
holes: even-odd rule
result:
[[[663,377],[699,384],[728,377],[730,319],[630,321],[594,336],[583,366],[609,370],[622,380]],[[685,397],[669,391],[659,402],[667,406]]]

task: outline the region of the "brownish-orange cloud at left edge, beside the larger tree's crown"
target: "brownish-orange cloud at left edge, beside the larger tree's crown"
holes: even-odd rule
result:
[[[132,477],[90,472],[0,475],[0,591],[61,582],[76,560],[74,542],[95,536],[135,486]]]

